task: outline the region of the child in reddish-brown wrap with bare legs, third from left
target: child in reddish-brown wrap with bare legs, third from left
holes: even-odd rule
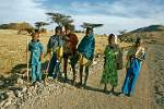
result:
[[[73,71],[73,80],[72,84],[75,85],[75,64],[78,63],[77,58],[77,45],[78,45],[78,36],[71,32],[69,25],[65,26],[66,35],[65,35],[65,46],[63,46],[63,73],[65,73],[65,82],[67,82],[67,66],[68,60],[70,60],[70,64]]]

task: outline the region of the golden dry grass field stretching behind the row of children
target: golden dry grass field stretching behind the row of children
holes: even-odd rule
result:
[[[40,41],[45,48],[49,37],[52,33],[44,34],[40,36]],[[82,39],[84,34],[77,34],[79,40]],[[0,29],[0,74],[8,74],[17,64],[26,63],[26,47],[31,36],[17,35],[16,31]],[[95,36],[95,51],[101,53],[104,51],[107,45],[107,38],[105,36]],[[127,44],[121,43],[121,47]]]

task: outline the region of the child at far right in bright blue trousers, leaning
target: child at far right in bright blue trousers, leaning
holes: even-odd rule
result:
[[[141,38],[137,38],[136,44],[127,55],[127,75],[122,86],[122,94],[130,96],[134,89],[137,78],[140,73],[141,62],[145,58],[145,49],[142,47]]]

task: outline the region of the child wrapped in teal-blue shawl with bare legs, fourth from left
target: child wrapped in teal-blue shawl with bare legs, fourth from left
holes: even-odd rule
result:
[[[89,68],[92,64],[94,58],[94,50],[95,50],[95,38],[93,34],[93,28],[86,28],[86,35],[83,37],[81,43],[78,46],[78,51],[80,52],[80,86],[86,86],[87,77],[89,77]],[[82,75],[83,75],[83,68],[85,66],[85,77],[84,84],[82,84]]]

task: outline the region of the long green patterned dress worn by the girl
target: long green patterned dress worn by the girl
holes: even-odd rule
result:
[[[109,45],[105,48],[105,64],[101,83],[110,84],[113,87],[118,85],[118,75],[116,70],[116,52],[117,47],[110,47]]]

